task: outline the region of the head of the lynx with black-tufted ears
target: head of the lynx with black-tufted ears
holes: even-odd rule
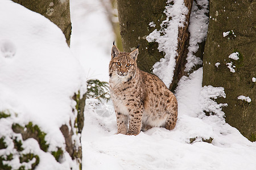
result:
[[[117,47],[113,45],[111,52],[111,61],[109,63],[109,76],[121,78],[124,81],[130,80],[136,74],[138,48],[131,53],[119,52]]]

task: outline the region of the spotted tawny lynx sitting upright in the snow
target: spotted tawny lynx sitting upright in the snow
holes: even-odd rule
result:
[[[172,130],[177,121],[176,97],[157,76],[137,67],[138,53],[138,48],[125,53],[112,47],[109,87],[117,133],[138,135],[152,127]]]

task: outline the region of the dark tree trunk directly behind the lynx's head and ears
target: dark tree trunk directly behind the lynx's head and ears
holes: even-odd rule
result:
[[[166,19],[166,0],[125,1],[117,0],[118,19],[122,37],[123,50],[131,52],[138,45],[137,59],[139,69],[151,72],[152,66],[164,55],[158,51],[157,42],[148,42],[146,36],[154,29],[160,29],[160,23]],[[154,22],[155,27],[148,24]]]

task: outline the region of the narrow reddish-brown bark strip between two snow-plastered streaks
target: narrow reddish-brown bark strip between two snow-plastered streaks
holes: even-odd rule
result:
[[[174,70],[174,78],[170,84],[169,89],[174,91],[177,87],[177,83],[183,75],[187,75],[185,72],[185,64],[187,63],[187,54],[189,46],[189,32],[188,24],[191,14],[191,8],[193,5],[193,0],[184,0],[185,6],[188,8],[188,14],[186,15],[186,20],[184,22],[184,27],[179,27],[178,33],[178,44],[177,44],[177,56],[176,56],[176,67]]]

